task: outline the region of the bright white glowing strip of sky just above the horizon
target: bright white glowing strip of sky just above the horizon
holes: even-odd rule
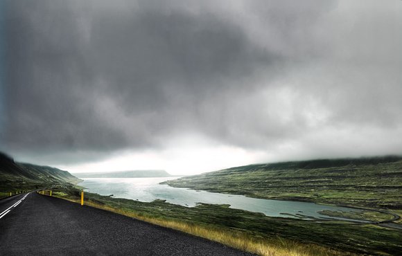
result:
[[[172,175],[192,175],[259,161],[261,153],[236,147],[187,147],[168,152],[125,152],[96,163],[59,165],[71,173],[165,170]]]

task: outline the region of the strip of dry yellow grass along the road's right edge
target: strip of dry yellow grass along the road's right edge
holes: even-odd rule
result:
[[[79,199],[67,199],[61,196],[57,197],[72,201],[74,203],[80,203]],[[239,250],[255,253],[256,255],[263,255],[263,256],[354,255],[351,253],[331,250],[329,248],[319,246],[317,244],[302,244],[297,241],[292,241],[290,239],[281,239],[281,238],[274,238],[272,240],[258,239],[258,238],[256,239],[255,237],[251,237],[246,232],[235,231],[235,230],[222,230],[220,228],[205,227],[193,223],[148,217],[144,216],[143,214],[138,214],[136,212],[130,212],[118,208],[112,208],[109,205],[100,205],[99,203],[94,203],[92,201],[85,201],[85,205],[89,205],[91,207],[98,209],[107,210],[110,212],[115,212],[117,214],[122,214],[158,226],[180,230],[182,232],[195,235],[197,237],[203,237],[205,239],[217,241],[220,244],[225,244],[227,246],[237,248]]]

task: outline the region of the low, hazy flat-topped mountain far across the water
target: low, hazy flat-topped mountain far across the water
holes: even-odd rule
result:
[[[79,178],[152,178],[152,177],[170,177],[164,170],[137,170],[123,172],[87,172],[74,174]]]

